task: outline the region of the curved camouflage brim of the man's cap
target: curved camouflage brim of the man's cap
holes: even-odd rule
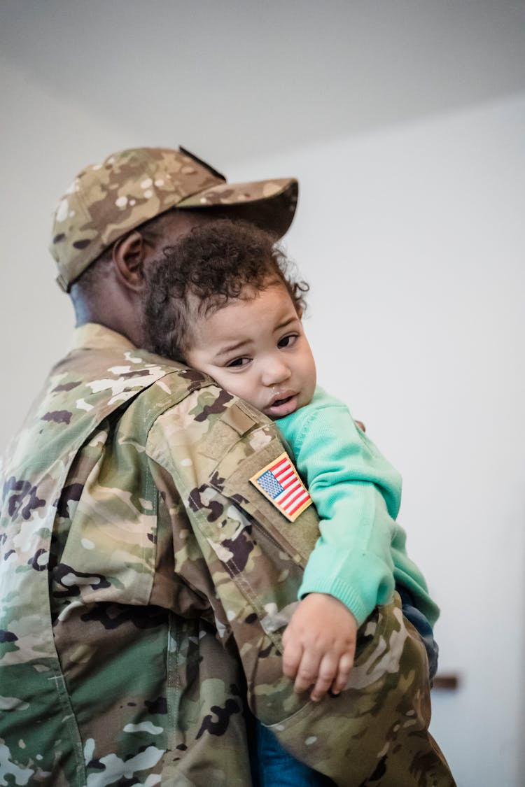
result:
[[[192,194],[176,207],[209,210],[217,216],[235,216],[282,238],[294,219],[298,191],[298,181],[294,178],[220,183]]]

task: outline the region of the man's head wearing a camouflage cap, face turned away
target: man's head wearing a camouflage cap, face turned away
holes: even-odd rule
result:
[[[297,197],[294,179],[229,184],[183,148],[113,153],[80,172],[57,205],[57,281],[71,294],[77,324],[102,323],[141,344],[144,270],[165,246],[220,216],[282,237]]]

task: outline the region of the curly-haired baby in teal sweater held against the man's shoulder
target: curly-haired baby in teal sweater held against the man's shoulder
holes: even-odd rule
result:
[[[320,538],[283,634],[284,673],[298,691],[313,686],[312,700],[341,691],[358,626],[396,589],[433,677],[438,608],[395,521],[401,478],[346,405],[316,385],[301,322],[309,288],[292,278],[275,238],[239,222],[203,224],[146,276],[148,348],[209,374],[275,420],[316,504]]]

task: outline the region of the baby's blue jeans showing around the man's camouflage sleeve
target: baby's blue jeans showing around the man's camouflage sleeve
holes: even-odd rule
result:
[[[412,623],[423,640],[432,682],[438,669],[439,652],[432,626],[423,612],[414,606],[412,593],[401,586],[396,586],[396,590],[401,597],[403,615]],[[335,781],[288,754],[272,731],[259,722],[257,722],[257,767],[260,787],[335,787]]]

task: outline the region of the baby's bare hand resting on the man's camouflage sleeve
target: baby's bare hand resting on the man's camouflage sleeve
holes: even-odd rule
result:
[[[338,694],[346,685],[356,651],[357,622],[334,596],[309,593],[283,634],[283,672],[295,678],[294,689],[320,700],[328,689]]]

